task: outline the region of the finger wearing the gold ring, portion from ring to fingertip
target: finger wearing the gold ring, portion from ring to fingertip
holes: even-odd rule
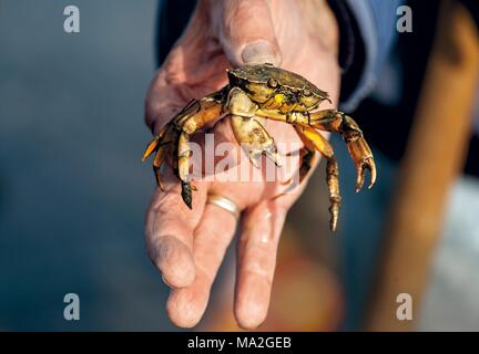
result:
[[[208,204],[194,231],[193,254],[196,266],[194,282],[173,290],[166,304],[170,319],[182,327],[200,322],[220,264],[236,229],[236,218],[227,210]]]

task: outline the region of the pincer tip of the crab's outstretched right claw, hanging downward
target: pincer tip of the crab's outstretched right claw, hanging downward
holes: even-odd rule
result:
[[[374,162],[373,153],[363,136],[347,143],[347,148],[350,157],[356,166],[356,192],[358,192],[364,185],[366,169],[369,169],[371,188],[376,181],[376,164]]]

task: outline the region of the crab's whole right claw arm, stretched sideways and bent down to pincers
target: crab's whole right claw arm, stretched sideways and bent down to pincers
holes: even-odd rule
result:
[[[292,112],[283,114],[273,110],[259,110],[256,114],[293,125],[314,127],[316,129],[340,134],[356,166],[356,191],[359,191],[363,187],[366,169],[369,169],[370,171],[369,188],[375,184],[376,165],[373,158],[373,153],[356,122],[343,112],[325,110],[318,112]]]

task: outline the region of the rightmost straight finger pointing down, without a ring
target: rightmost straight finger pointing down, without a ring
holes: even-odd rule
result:
[[[244,329],[255,329],[266,319],[286,210],[278,202],[269,201],[244,217],[234,304],[236,321]]]

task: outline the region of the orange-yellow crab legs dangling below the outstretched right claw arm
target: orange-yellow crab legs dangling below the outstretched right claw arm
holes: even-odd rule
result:
[[[329,190],[329,228],[335,231],[342,198],[339,194],[338,166],[336,158],[334,157],[333,147],[323,135],[320,135],[312,127],[295,125],[295,129],[302,138],[307,152],[302,159],[302,165],[299,168],[299,181],[303,180],[303,178],[312,167],[310,162],[313,160],[313,158],[308,158],[307,160],[305,160],[305,157],[308,156],[308,154],[315,155],[315,150],[318,150],[326,158],[326,183]]]

